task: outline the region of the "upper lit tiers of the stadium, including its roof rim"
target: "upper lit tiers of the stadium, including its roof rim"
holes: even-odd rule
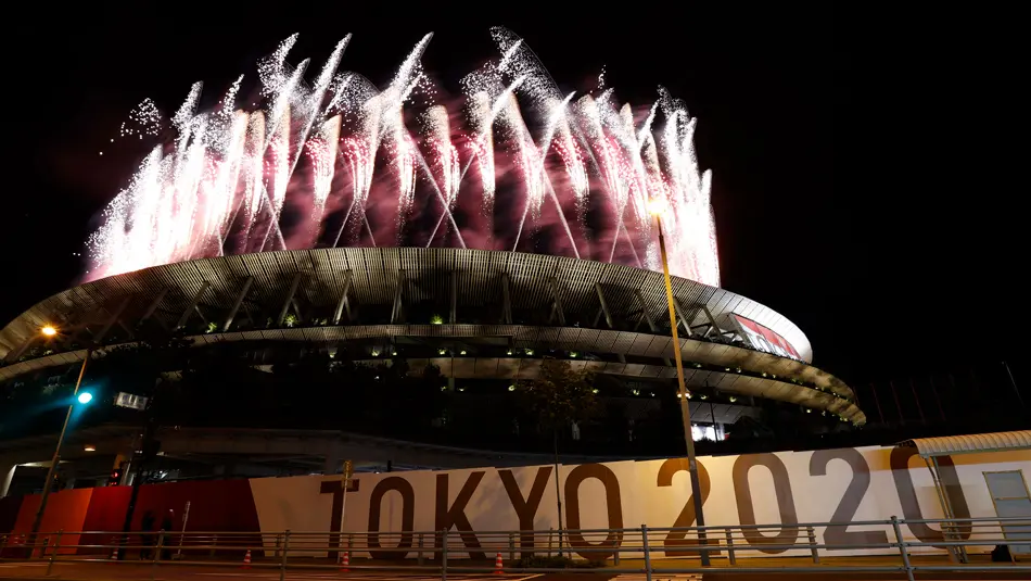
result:
[[[738,294],[673,279],[688,386],[865,414],[813,367],[802,331]],[[215,342],[296,342],[376,363],[403,357],[450,378],[534,377],[542,358],[634,380],[675,377],[659,273],[561,256],[346,248],[203,258],[55,294],[0,331],[7,381],[131,344],[143,328]],[[61,329],[47,338],[40,329]],[[792,354],[797,354],[795,358]]]

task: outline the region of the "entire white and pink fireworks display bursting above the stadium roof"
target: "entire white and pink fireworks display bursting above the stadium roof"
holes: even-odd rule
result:
[[[430,235],[427,245],[440,240],[466,248],[463,235],[475,231],[491,248],[500,238],[505,247],[514,239],[511,248],[518,249],[530,237],[533,248],[548,253],[658,268],[647,204],[659,198],[667,207],[671,269],[717,285],[711,174],[699,168],[691,142],[696,119],[684,104],[660,88],[649,109],[633,109],[604,87],[604,73],[596,97],[574,100],[559,91],[521,38],[501,28],[491,35],[499,58],[462,79],[464,119],[448,115],[453,103],[436,101],[423,73],[431,35],[383,90],[357,73],[338,73],[351,35],[310,86],[304,78],[308,61],[296,67],[287,62],[297,36],[281,42],[259,62],[256,110],[239,109],[242,78],[211,112],[199,112],[202,85],[193,85],[167,122],[171,140],[155,143],[90,236],[88,278],[285,249],[288,235],[292,245],[339,245],[347,229],[348,243],[376,245],[393,227],[398,243],[410,243],[424,240],[412,228],[425,222],[409,220],[409,214],[417,207],[435,212],[436,203],[436,224],[422,232]],[[421,115],[406,116],[413,108]],[[411,118],[422,119],[419,128],[407,127]],[[635,118],[644,119],[639,127]],[[145,100],[119,132],[155,140],[165,126]],[[462,190],[473,163],[478,184]],[[436,202],[416,203],[420,197]],[[543,210],[545,198],[555,214]],[[485,230],[456,220],[457,212],[468,216],[470,210],[483,218],[475,228],[486,224]],[[338,231],[322,231],[327,223],[338,228],[341,218]],[[575,233],[571,219],[578,223]],[[550,226],[561,226],[565,237],[549,235]],[[454,230],[454,238],[442,236],[442,228]]]

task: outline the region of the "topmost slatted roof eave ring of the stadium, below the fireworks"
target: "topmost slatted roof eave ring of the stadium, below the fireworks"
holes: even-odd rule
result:
[[[430,278],[447,278],[438,275],[460,273],[462,292],[473,298],[488,294],[486,291],[497,287],[497,277],[506,274],[513,283],[518,281],[521,285],[519,291],[523,301],[549,305],[553,293],[560,292],[567,306],[589,306],[595,310],[598,306],[596,287],[600,285],[606,292],[611,290],[616,294],[614,299],[626,304],[637,306],[640,298],[652,311],[655,320],[660,320],[660,315],[666,312],[662,274],[619,264],[467,249],[293,250],[154,266],[65,290],[34,305],[0,329],[0,356],[16,354],[38,334],[40,326],[60,323],[54,318],[60,319],[72,312],[104,313],[130,296],[141,303],[164,296],[160,311],[182,312],[194,295],[207,289],[202,301],[205,308],[225,312],[230,308],[232,298],[244,279],[253,279],[254,290],[268,299],[275,299],[285,294],[295,276],[303,275],[309,286],[305,289],[307,298],[314,302],[332,304],[345,285],[352,286],[352,294],[392,296],[400,271],[412,277]],[[354,276],[342,276],[344,274]],[[557,289],[551,285],[552,280],[559,282]],[[801,361],[812,361],[809,339],[798,326],[776,311],[725,289],[689,279],[674,277],[673,287],[685,310],[682,316],[697,316],[698,324],[703,326],[711,315],[725,330],[735,331],[728,319],[731,315],[738,315],[778,333],[794,348]],[[609,301],[611,305],[613,298]],[[702,311],[703,307],[708,312]]]

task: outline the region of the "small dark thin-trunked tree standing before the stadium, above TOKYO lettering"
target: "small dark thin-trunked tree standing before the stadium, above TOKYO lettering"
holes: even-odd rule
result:
[[[546,358],[540,374],[533,379],[517,381],[517,393],[522,404],[537,418],[540,430],[551,432],[555,497],[559,516],[559,555],[562,554],[562,494],[559,490],[559,429],[573,422],[588,420],[600,413],[593,386],[594,377],[587,371],[573,369],[568,361]]]

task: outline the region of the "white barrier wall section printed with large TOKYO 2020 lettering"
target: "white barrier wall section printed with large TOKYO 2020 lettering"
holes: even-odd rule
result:
[[[1031,452],[970,454],[939,458],[939,463],[957,518],[996,516],[984,472],[1019,470],[1026,482],[1031,473]],[[752,543],[791,544],[799,536],[799,523],[887,520],[892,515],[904,519],[943,516],[931,475],[914,449],[702,457],[698,464],[707,525],[781,525],[777,534],[753,533]],[[469,554],[479,556],[482,551],[478,548],[483,547],[478,546],[476,531],[558,528],[551,466],[362,473],[354,479],[345,502],[342,484],[342,477],[323,476],[252,480],[262,530],[449,529],[456,531],[454,542],[458,542],[459,531],[466,531],[462,542]],[[565,529],[695,523],[687,462],[683,458],[561,465],[559,489]],[[942,539],[935,526],[912,523],[903,528],[903,533],[924,542]],[[988,538],[1000,536],[997,530],[984,533]],[[969,536],[969,531],[965,534]],[[650,539],[652,546],[676,555],[677,539],[665,536],[657,533]],[[836,545],[881,543],[893,536],[888,525],[816,528],[818,542]],[[570,539],[574,550],[598,541],[575,534]],[[390,542],[396,543],[397,538]],[[831,551],[840,555],[874,552],[847,547]],[[804,555],[809,550],[769,548],[738,556],[750,554]],[[415,552],[408,556],[413,557]],[[599,554],[585,552],[582,556],[597,558]]]

